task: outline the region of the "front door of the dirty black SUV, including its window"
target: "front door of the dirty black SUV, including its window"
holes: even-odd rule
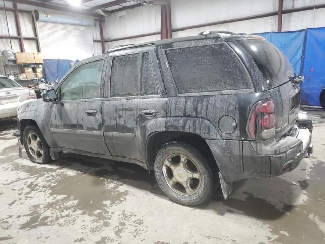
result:
[[[104,142],[101,108],[104,60],[76,67],[61,83],[51,128],[58,146],[109,154]]]

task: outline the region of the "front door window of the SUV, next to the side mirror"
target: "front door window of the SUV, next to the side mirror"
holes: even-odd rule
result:
[[[100,97],[103,60],[79,66],[61,85],[61,100],[89,99]]]

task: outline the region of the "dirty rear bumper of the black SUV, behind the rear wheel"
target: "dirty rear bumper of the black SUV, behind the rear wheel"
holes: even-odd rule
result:
[[[311,124],[311,125],[310,125]],[[280,141],[250,142],[206,140],[225,181],[270,177],[294,170],[307,153],[312,153],[312,122]]]

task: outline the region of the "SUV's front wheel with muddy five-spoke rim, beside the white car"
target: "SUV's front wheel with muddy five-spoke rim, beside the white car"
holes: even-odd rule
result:
[[[23,140],[26,153],[32,162],[47,164],[52,161],[50,148],[37,127],[27,126],[23,132]]]

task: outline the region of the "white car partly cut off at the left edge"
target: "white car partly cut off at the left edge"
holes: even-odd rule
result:
[[[34,90],[0,75],[0,119],[16,117],[18,107],[31,99],[36,99]]]

